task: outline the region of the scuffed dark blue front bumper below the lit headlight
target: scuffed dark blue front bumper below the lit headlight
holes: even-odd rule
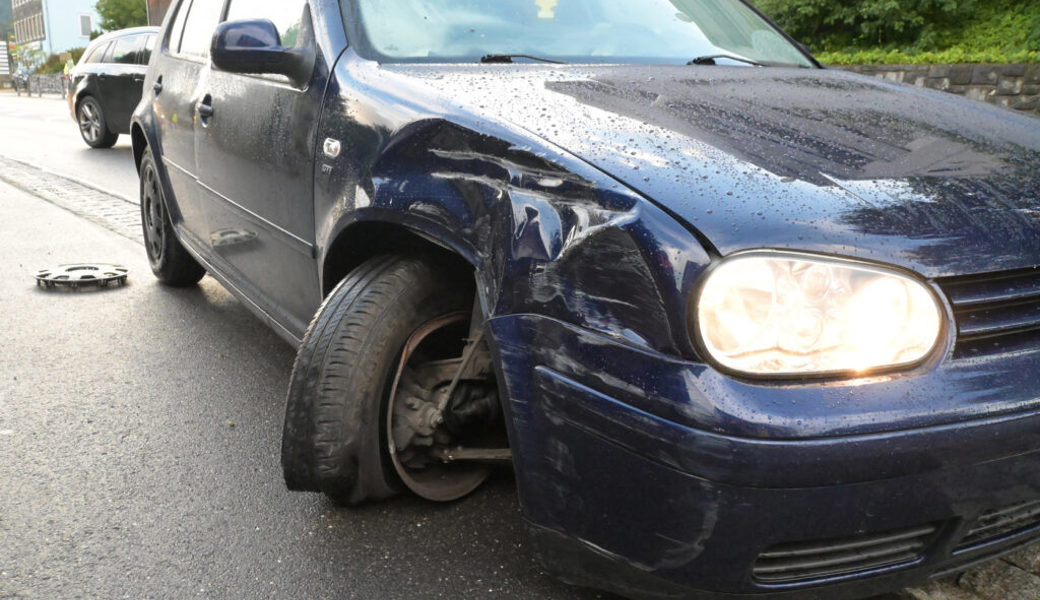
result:
[[[865,598],[1040,533],[1029,504],[1040,500],[1038,411],[980,411],[911,428],[876,421],[872,429],[850,417],[858,429],[846,435],[798,437],[783,418],[769,429],[769,390],[756,390],[746,421],[736,410],[712,413],[713,390],[720,406],[733,409],[734,398],[731,388],[705,385],[713,375],[704,365],[537,316],[490,327],[525,518],[538,553],[565,579],[645,598]],[[684,377],[685,391],[676,384]],[[862,382],[842,393],[893,385]],[[820,387],[775,395],[810,398]],[[653,399],[661,390],[668,406]],[[1004,392],[1013,407],[1029,406],[1033,393]],[[965,393],[974,391],[952,386],[950,405],[966,406],[953,397]],[[1018,521],[978,534],[1008,507]],[[894,542],[885,551],[863,546],[879,536]],[[787,558],[762,557],[778,549]],[[851,571],[849,552],[859,559]],[[837,569],[828,566],[835,560]]]

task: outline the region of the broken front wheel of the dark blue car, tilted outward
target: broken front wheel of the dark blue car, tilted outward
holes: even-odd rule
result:
[[[282,438],[290,489],[357,504],[404,484],[450,501],[487,478],[486,462],[449,455],[486,446],[501,423],[490,359],[476,365],[466,339],[468,287],[424,260],[385,256],[330,294],[292,369]]]

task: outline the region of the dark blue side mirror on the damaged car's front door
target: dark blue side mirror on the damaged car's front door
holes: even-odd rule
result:
[[[310,15],[307,17],[309,29]],[[303,28],[301,33],[303,33]],[[310,36],[301,35],[304,48],[285,48],[278,28],[266,19],[228,21],[213,33],[210,56],[213,64],[231,73],[285,75],[303,85],[314,70],[314,50]]]

